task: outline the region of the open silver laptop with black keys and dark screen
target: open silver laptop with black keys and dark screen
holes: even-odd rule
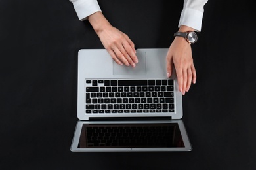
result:
[[[105,49],[78,52],[77,124],[72,152],[190,151],[168,48],[137,49],[136,67],[118,65]]]

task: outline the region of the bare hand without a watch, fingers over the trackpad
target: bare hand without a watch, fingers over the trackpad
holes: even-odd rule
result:
[[[119,65],[125,64],[135,67],[138,59],[135,55],[135,45],[131,39],[125,33],[110,25],[101,12],[92,14],[88,20],[114,61]]]

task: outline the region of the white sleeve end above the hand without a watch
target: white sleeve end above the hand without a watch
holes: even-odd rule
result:
[[[79,20],[86,20],[91,14],[100,11],[97,0],[70,0],[73,3]]]

